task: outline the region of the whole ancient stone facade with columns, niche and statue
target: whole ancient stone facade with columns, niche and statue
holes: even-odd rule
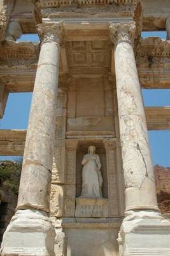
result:
[[[14,2],[0,45],[1,116],[9,92],[33,94],[27,134],[0,134],[1,154],[24,152],[1,255],[170,255],[147,134],[169,129],[170,112],[144,108],[141,94],[169,88],[169,40],[141,38],[169,36],[168,1]],[[15,42],[21,31],[40,44]]]

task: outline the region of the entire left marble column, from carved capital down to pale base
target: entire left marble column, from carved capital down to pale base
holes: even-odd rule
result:
[[[17,212],[3,237],[1,255],[54,255],[55,232],[48,218],[55,141],[62,24],[39,24],[39,54]]]

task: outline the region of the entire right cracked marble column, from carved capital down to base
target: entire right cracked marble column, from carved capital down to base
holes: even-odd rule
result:
[[[125,182],[120,255],[170,255],[170,223],[157,207],[145,111],[133,51],[135,22],[111,24]],[[166,234],[165,237],[162,235]]]

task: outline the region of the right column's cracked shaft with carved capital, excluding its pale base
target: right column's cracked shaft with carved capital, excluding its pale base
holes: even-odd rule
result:
[[[118,118],[125,182],[125,209],[155,209],[157,198],[145,110],[134,58],[135,22],[111,24],[115,44]]]

